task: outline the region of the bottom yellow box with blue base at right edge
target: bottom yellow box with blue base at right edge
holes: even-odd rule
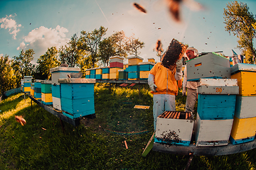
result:
[[[237,118],[234,117],[233,127],[230,134],[230,142],[233,145],[250,142],[254,140],[256,132],[256,117]]]

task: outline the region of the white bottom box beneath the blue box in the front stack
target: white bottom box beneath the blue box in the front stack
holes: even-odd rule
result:
[[[233,119],[202,120],[196,115],[196,146],[209,147],[228,145]]]

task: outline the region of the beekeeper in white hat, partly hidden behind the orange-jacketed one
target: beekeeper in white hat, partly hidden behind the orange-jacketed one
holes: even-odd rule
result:
[[[194,47],[188,47],[186,52],[186,56],[188,60],[198,57],[199,53],[198,50]],[[184,69],[184,77],[183,77],[183,88],[182,88],[182,95],[187,96],[186,98],[186,112],[194,112],[194,106],[197,100],[197,87],[199,86],[198,81],[187,81],[187,71],[186,66]]]

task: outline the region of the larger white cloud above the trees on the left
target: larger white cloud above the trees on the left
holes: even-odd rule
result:
[[[65,33],[68,33],[67,28],[57,26],[56,28],[46,28],[41,26],[31,30],[27,36],[23,38],[23,42],[17,47],[17,50],[33,49],[35,52],[34,60],[37,60],[41,55],[45,54],[50,47],[64,46],[70,38],[65,38]]]

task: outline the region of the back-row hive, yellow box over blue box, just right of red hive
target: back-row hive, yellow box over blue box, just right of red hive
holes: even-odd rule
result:
[[[127,57],[128,59],[128,80],[138,80],[139,79],[139,62],[143,61],[142,57],[134,56]]]

